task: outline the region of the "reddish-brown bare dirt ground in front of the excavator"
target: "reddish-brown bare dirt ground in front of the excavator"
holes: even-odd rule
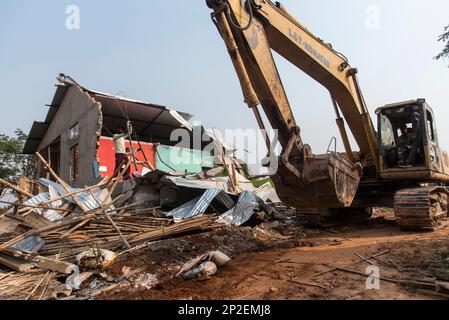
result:
[[[284,235],[260,230],[260,226],[225,228],[162,241],[137,256],[123,257],[108,271],[111,276],[120,276],[125,269],[142,268],[142,272],[157,277],[158,284],[142,286],[140,277],[97,298],[442,299],[420,291],[435,291],[434,288],[384,280],[379,289],[368,290],[365,274],[370,264],[379,267],[380,277],[394,281],[420,281],[436,274],[449,280],[449,226],[432,233],[405,232],[394,222],[380,219],[326,230],[290,228],[283,230]],[[174,277],[183,263],[209,250],[221,250],[232,260],[208,280]],[[369,259],[370,262],[351,265],[362,260],[360,256],[368,258],[385,251],[388,252]],[[336,266],[347,266],[363,274],[336,270],[319,275]]]

